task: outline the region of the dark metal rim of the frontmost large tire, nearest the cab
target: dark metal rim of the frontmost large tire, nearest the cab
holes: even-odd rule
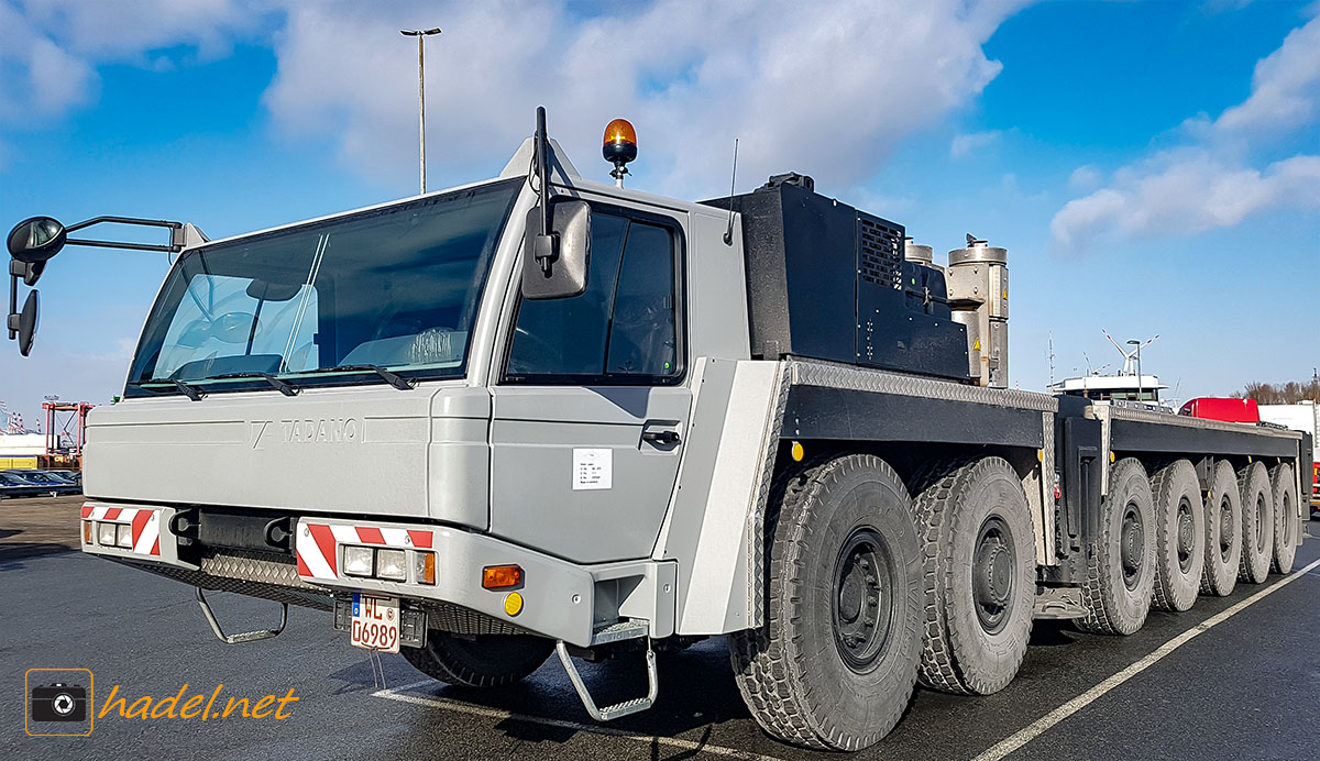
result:
[[[874,529],[858,529],[843,542],[833,592],[834,645],[849,669],[869,671],[884,652],[894,617],[894,567]]]

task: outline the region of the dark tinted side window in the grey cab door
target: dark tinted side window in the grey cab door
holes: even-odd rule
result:
[[[506,377],[628,382],[677,376],[676,256],[672,228],[593,211],[586,291],[521,301]]]

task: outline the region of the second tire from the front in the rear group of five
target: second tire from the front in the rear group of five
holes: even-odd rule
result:
[[[1191,460],[1173,460],[1151,479],[1155,496],[1155,600],[1189,611],[1205,568],[1205,502]]]

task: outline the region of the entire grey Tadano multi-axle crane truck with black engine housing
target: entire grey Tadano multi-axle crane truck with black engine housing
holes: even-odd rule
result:
[[[622,179],[630,136],[606,156]],[[543,121],[490,182],[161,224],[83,550],[197,587],[230,642],[279,629],[226,634],[202,590],[450,683],[557,650],[609,720],[653,703],[656,650],[725,634],[767,732],[858,749],[917,682],[1005,687],[1034,619],[1129,634],[1302,539],[1309,437],[1006,388],[1006,252],[937,266],[807,177],[660,198],[583,179]],[[65,232],[15,228],[15,293]],[[648,695],[598,707],[574,658],[628,653]]]

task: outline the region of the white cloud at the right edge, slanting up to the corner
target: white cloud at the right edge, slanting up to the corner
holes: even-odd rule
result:
[[[1106,187],[1064,204],[1049,224],[1051,245],[1085,251],[1106,236],[1195,235],[1272,208],[1320,208],[1320,156],[1251,161],[1288,135],[1313,132],[1317,102],[1320,17],[1257,63],[1246,100],[1214,120],[1187,121],[1187,145],[1125,166]],[[1072,179],[1093,177],[1080,167],[1069,185],[1081,190]]]

